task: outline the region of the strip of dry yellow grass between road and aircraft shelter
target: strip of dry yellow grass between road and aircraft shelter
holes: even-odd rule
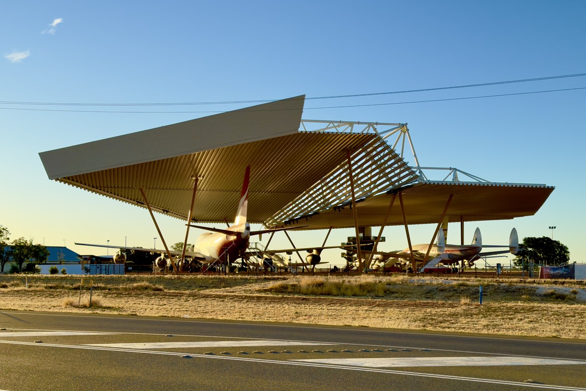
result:
[[[542,287],[360,276],[169,278],[118,285],[145,282],[164,290],[100,288],[102,307],[80,308],[64,306],[64,300],[79,300],[79,291],[70,288],[11,287],[0,289],[0,308],[586,338],[586,293],[580,283]],[[483,305],[478,304],[479,282]],[[82,300],[88,295],[83,290]]]

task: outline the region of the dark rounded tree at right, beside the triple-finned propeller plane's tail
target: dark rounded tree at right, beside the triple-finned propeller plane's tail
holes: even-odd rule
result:
[[[525,237],[522,243],[522,252],[515,257],[515,264],[529,267],[529,261],[534,264],[560,266],[570,262],[570,251],[559,240],[550,237]]]

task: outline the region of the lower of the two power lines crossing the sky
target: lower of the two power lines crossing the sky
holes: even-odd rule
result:
[[[431,102],[443,102],[451,100],[466,100],[466,99],[481,99],[481,98],[494,98],[503,96],[516,96],[516,95],[529,95],[529,94],[542,94],[560,91],[575,91],[575,90],[586,90],[586,87],[575,87],[572,89],[558,89],[558,90],[544,90],[544,91],[530,91],[522,93],[510,93],[510,94],[496,94],[496,95],[483,95],[483,96],[470,96],[462,98],[445,98],[445,99],[430,99],[430,100],[415,100],[406,102],[392,102],[392,103],[370,103],[370,104],[354,104],[347,106],[324,106],[324,107],[304,107],[304,110],[320,110],[323,108],[349,108],[349,107],[370,107],[370,106],[390,106],[393,104],[412,104],[412,103],[431,103]],[[52,109],[52,108],[23,108],[23,107],[0,107],[0,110],[25,110],[25,111],[60,111],[69,113],[121,113],[121,114],[216,114],[226,113],[226,111],[111,111],[111,110],[63,110],[63,109]],[[282,111],[282,110],[297,110],[297,109],[261,109],[248,110],[248,111]]]

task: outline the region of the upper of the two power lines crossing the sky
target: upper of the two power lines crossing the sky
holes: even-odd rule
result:
[[[560,75],[560,76],[536,77],[533,79],[493,81],[491,83],[464,84],[462,86],[433,87],[433,88],[418,89],[418,90],[401,90],[401,91],[387,91],[387,92],[366,93],[366,94],[306,97],[305,100],[356,98],[356,97],[365,97],[365,96],[380,96],[380,95],[390,95],[390,94],[406,94],[406,93],[417,93],[417,92],[428,92],[428,91],[454,90],[454,89],[464,89],[464,88],[471,88],[471,87],[496,86],[499,84],[513,84],[513,83],[526,83],[526,82],[541,81],[541,80],[566,79],[568,77],[582,77],[582,76],[586,76],[586,73],[564,74],[564,75]],[[212,104],[266,103],[266,102],[272,102],[272,101],[275,101],[275,100],[274,99],[263,99],[263,100],[234,100],[234,101],[217,101],[217,102],[177,102],[177,103],[54,103],[54,102],[0,101],[0,104],[33,105],[33,106],[196,106],[196,105],[212,105]],[[108,113],[108,111],[104,111],[104,112]],[[118,113],[118,112],[116,112],[116,113]],[[120,112],[120,113],[122,113],[122,112]],[[139,113],[142,113],[142,112],[139,112]],[[163,112],[163,113],[166,113],[166,112]],[[188,113],[197,113],[197,112],[196,111],[188,111]],[[223,113],[223,111],[203,111],[202,113]]]

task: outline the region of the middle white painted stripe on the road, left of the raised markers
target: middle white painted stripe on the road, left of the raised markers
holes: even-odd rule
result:
[[[233,346],[295,346],[295,345],[332,345],[318,342],[275,341],[257,339],[253,341],[196,341],[196,342],[145,342],[135,344],[87,344],[86,346],[103,346],[122,349],[176,349],[176,348],[230,348]]]

